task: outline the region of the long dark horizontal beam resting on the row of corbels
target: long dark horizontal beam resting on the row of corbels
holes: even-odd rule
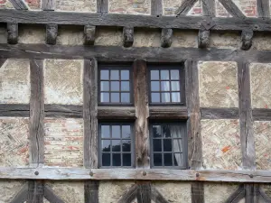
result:
[[[208,16],[155,16],[135,14],[89,14],[50,11],[2,10],[0,23],[38,23],[38,24],[79,24],[120,27],[150,27],[201,29],[201,23],[209,22]],[[215,26],[211,30],[242,31],[251,28],[253,31],[271,31],[271,20],[262,18],[221,18],[214,17]]]

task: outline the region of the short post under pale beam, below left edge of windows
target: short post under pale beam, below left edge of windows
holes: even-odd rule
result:
[[[98,203],[98,181],[85,181],[85,203]]]

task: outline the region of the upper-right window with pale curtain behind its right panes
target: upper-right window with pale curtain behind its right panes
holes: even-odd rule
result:
[[[150,104],[184,104],[184,79],[182,66],[149,67]]]

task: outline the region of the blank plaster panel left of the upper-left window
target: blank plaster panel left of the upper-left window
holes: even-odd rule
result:
[[[83,60],[44,60],[45,104],[83,104]]]

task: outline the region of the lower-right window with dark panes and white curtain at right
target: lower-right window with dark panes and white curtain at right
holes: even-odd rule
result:
[[[151,160],[154,168],[186,168],[185,126],[185,122],[151,125]]]

